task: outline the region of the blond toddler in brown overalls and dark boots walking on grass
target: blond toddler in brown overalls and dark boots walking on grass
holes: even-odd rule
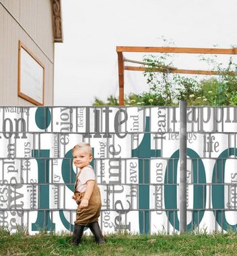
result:
[[[92,148],[89,143],[79,143],[73,150],[73,164],[79,168],[75,180],[75,191],[72,199],[77,204],[77,216],[74,225],[73,245],[81,241],[83,229],[88,226],[95,236],[96,243],[104,243],[104,238],[98,224],[101,209],[100,189],[96,183],[96,175],[90,162],[92,161]]]

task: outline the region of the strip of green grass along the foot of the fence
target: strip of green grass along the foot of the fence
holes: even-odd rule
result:
[[[106,244],[96,245],[92,236],[81,244],[70,244],[69,234],[24,232],[9,234],[0,230],[0,255],[236,255],[237,233],[129,235],[110,234]]]

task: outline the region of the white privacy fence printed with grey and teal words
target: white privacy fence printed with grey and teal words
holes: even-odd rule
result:
[[[1,107],[0,226],[73,230],[90,142],[103,232],[179,232],[178,107]],[[237,108],[187,108],[187,230],[236,230]],[[88,232],[88,231],[86,231]]]

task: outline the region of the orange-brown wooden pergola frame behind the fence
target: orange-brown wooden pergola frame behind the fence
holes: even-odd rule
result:
[[[146,71],[147,67],[125,66],[125,62],[139,63],[141,61],[131,61],[123,57],[123,53],[195,53],[195,54],[217,54],[217,55],[236,55],[237,49],[215,49],[215,48],[184,48],[184,47],[142,47],[142,46],[116,46],[119,63],[119,106],[124,106],[124,72]],[[147,63],[148,65],[148,63]],[[178,69],[167,67],[170,73],[197,74],[197,75],[217,75],[219,71]],[[166,68],[166,69],[167,69]],[[161,72],[160,68],[154,68],[153,71]]]

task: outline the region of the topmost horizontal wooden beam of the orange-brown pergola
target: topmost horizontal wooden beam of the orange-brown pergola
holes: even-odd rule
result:
[[[117,53],[196,53],[196,54],[226,54],[236,55],[237,49],[216,48],[184,48],[184,47],[143,47],[143,46],[116,46]]]

